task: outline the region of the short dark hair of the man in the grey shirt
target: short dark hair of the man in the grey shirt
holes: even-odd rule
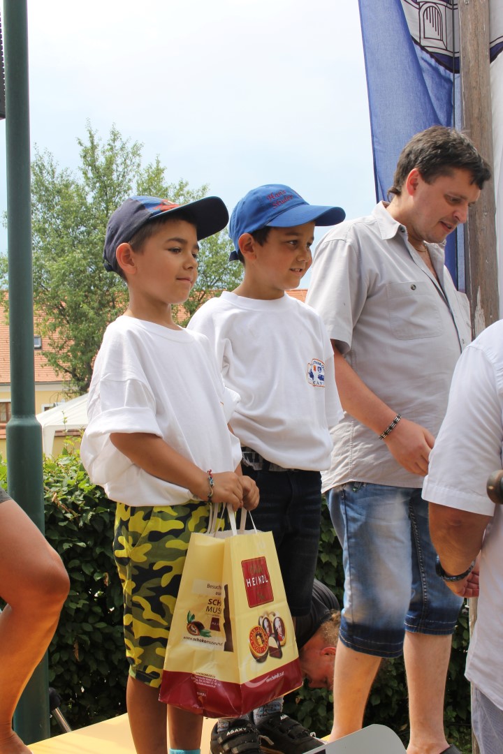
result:
[[[431,126],[416,133],[403,147],[388,194],[400,196],[406,177],[415,167],[427,183],[439,176],[451,176],[453,170],[468,170],[473,176],[471,182],[482,189],[491,177],[489,165],[468,136],[445,126]]]

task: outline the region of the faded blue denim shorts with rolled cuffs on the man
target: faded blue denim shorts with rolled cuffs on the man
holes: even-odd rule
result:
[[[435,573],[421,489],[349,482],[328,504],[343,552],[342,642],[399,657],[405,631],[452,633],[462,599]]]

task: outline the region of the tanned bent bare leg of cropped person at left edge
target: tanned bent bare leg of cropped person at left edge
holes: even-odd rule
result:
[[[0,754],[29,752],[12,731],[12,716],[44,656],[69,591],[60,556],[14,502],[0,503]]]

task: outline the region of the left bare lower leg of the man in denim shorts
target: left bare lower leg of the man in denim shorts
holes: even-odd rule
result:
[[[355,652],[339,642],[333,673],[333,728],[335,741],[359,731],[370,688],[381,664],[380,657]]]

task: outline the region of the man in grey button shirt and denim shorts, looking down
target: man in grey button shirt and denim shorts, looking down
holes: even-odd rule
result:
[[[361,727],[380,658],[403,652],[408,754],[457,751],[443,731],[443,693],[461,600],[435,574],[421,492],[471,339],[443,242],[489,177],[468,138],[431,127],[403,149],[391,202],[337,225],[314,256],[307,302],[332,339],[346,412],[324,475],[345,566],[333,740]]]

